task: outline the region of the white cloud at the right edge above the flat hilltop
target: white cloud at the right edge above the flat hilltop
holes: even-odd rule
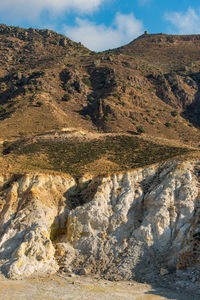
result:
[[[189,8],[186,12],[165,14],[177,34],[196,34],[200,32],[200,11]]]

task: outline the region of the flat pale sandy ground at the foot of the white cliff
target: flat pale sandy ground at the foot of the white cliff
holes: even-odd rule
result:
[[[38,278],[11,281],[0,278],[0,299],[10,300],[194,300],[184,291],[170,291],[153,288],[137,282],[111,282],[91,279],[84,276],[73,278],[56,275],[49,278]]]

